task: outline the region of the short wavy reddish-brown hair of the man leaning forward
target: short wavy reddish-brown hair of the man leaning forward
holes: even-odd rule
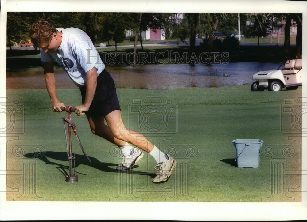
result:
[[[38,48],[43,47],[45,44],[49,44],[52,40],[52,34],[54,32],[57,32],[54,25],[45,19],[34,22],[29,28],[30,39],[32,43]]]

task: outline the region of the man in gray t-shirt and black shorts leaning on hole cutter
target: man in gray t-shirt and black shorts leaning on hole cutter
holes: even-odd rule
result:
[[[143,153],[132,144],[156,160],[157,175],[153,182],[167,181],[176,166],[176,160],[161,152],[142,134],[124,126],[114,81],[105,70],[89,36],[77,28],[55,28],[45,20],[33,23],[29,35],[33,44],[41,48],[52,110],[62,112],[61,107],[65,107],[56,95],[55,60],[81,91],[82,105],[75,107],[75,113],[78,116],[86,114],[92,133],[118,145],[122,150],[122,164],[117,169],[129,170],[143,157]],[[138,137],[142,137],[142,140]]]

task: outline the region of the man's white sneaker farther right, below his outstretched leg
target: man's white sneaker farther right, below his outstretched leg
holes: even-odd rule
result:
[[[176,160],[174,160],[174,158],[169,155],[167,156],[169,157],[169,160],[158,163],[155,166],[155,168],[157,167],[158,170],[156,177],[153,178],[154,183],[166,182],[171,176],[173,170],[175,169],[175,166],[177,164]]]

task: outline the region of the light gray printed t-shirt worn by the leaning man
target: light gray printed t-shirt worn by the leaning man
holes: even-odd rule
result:
[[[45,53],[41,49],[41,61],[55,60],[78,86],[84,86],[86,72],[96,68],[98,75],[104,70],[98,51],[90,37],[78,28],[56,28],[63,33],[62,43],[57,51]]]

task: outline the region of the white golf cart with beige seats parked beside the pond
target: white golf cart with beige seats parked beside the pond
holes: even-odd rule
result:
[[[282,63],[283,65],[283,63]],[[291,59],[285,62],[284,68],[279,70],[260,71],[253,75],[253,80],[256,80],[251,85],[251,91],[280,91],[286,87],[287,90],[297,89],[302,85],[302,59]]]

